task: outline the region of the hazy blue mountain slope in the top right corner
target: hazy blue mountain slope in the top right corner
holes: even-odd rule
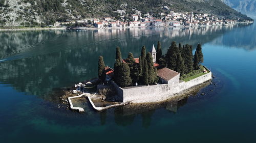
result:
[[[233,9],[245,14],[256,14],[256,0],[222,0]]]

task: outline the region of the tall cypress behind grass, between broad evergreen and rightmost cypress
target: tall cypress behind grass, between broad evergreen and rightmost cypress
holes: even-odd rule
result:
[[[185,74],[193,71],[193,53],[192,46],[186,44],[184,49],[184,64],[185,64]]]

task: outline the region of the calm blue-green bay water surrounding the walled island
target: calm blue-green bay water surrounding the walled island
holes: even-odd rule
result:
[[[0,142],[255,142],[255,33],[255,24],[0,32]],[[99,55],[112,66],[116,46],[139,56],[158,40],[164,53],[173,40],[200,42],[217,86],[178,103],[82,114],[53,94],[96,77]]]

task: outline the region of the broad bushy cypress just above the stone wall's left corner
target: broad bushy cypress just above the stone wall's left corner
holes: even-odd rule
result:
[[[132,84],[132,79],[130,77],[130,68],[126,63],[121,63],[117,81],[117,84],[121,88],[127,87]]]

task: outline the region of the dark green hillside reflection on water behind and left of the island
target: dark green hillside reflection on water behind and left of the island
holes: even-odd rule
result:
[[[1,42],[2,57],[8,55],[6,47],[13,52],[18,52],[25,46],[32,47],[0,63],[0,81],[12,84],[18,91],[53,101],[56,96],[48,94],[53,88],[65,87],[96,77],[99,55],[103,55],[105,64],[112,67],[116,46],[121,47],[123,57],[129,52],[139,56],[143,44],[149,50],[152,44],[160,40],[165,53],[173,40],[196,47],[197,43],[209,42],[231,29],[239,31],[246,28],[237,27],[160,27],[0,33],[1,40],[4,39],[4,42]],[[12,41],[13,39],[16,40]]]

